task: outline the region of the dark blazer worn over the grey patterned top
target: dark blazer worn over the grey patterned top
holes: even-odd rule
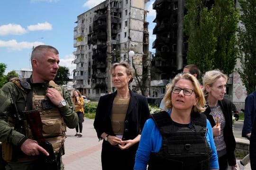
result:
[[[230,166],[236,165],[236,140],[233,134],[232,127],[232,110],[231,110],[231,102],[228,99],[223,99],[222,101],[218,101],[220,108],[224,114],[226,125],[223,129],[224,141],[227,146],[227,158]],[[211,127],[216,125],[213,117],[210,115],[210,107],[207,107],[204,114],[207,119],[210,121]]]

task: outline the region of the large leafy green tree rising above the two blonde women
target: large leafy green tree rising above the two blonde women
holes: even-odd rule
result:
[[[236,31],[239,19],[234,0],[186,0],[184,31],[188,35],[188,64],[202,73],[219,68],[233,72],[236,59]]]

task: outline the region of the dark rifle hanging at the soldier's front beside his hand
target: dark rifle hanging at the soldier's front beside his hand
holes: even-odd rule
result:
[[[26,115],[27,122],[37,143],[49,153],[49,156],[43,153],[40,155],[42,161],[41,165],[39,165],[40,170],[60,170],[60,160],[57,161],[52,144],[47,142],[42,134],[43,125],[39,111],[28,110],[23,112]]]

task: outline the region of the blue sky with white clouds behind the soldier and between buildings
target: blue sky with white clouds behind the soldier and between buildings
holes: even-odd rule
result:
[[[11,70],[31,68],[30,54],[33,46],[52,45],[59,51],[60,65],[72,65],[73,28],[77,16],[104,0],[0,0],[0,63]],[[147,2],[150,32],[150,50],[155,35],[155,10]],[[71,73],[71,72],[70,72]]]

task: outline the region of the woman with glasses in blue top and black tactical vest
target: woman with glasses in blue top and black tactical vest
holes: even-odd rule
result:
[[[168,112],[152,114],[145,123],[134,170],[146,170],[147,164],[148,170],[218,170],[210,122],[201,114],[205,99],[198,80],[178,74],[164,102]]]

